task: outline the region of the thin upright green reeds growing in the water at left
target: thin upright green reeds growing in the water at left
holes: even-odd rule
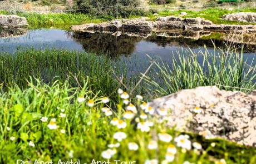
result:
[[[88,76],[91,90],[101,91],[100,95],[111,95],[118,87],[113,71],[119,74],[121,68],[125,74],[124,64],[95,54],[65,49],[41,51],[29,48],[14,54],[0,54],[0,83],[4,87],[15,84],[24,88],[27,86],[26,79],[33,76],[43,79],[44,83],[51,83],[53,78],[62,82],[70,79],[70,85],[77,86],[71,74],[80,72],[78,82]]]

